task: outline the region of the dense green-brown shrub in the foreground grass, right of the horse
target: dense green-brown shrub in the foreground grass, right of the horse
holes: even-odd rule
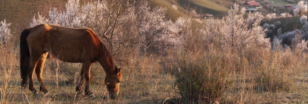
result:
[[[205,53],[203,57],[193,58],[183,48],[172,54],[179,69],[175,86],[185,103],[213,103],[223,99],[228,81],[221,67],[221,55]]]

